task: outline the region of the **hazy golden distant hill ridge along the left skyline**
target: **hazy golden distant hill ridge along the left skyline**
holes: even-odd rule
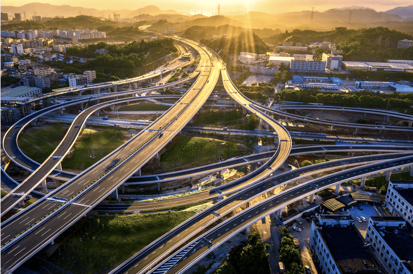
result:
[[[31,19],[34,15],[33,12],[36,12],[36,15],[41,17],[55,17],[55,16],[64,16],[64,17],[74,17],[80,14],[82,15],[92,15],[95,17],[104,17],[104,18],[111,18],[113,19],[113,14],[120,14],[121,18],[131,18],[134,16],[141,14],[150,14],[150,15],[158,15],[158,14],[178,14],[178,12],[174,10],[161,10],[154,5],[149,5],[146,7],[142,7],[135,10],[130,9],[120,9],[120,10],[98,10],[98,9],[87,9],[84,7],[72,7],[69,5],[50,5],[47,3],[39,3],[33,2],[21,7],[14,7],[14,6],[1,6],[1,11],[12,14],[20,13],[23,17],[23,12],[26,11],[26,18]]]

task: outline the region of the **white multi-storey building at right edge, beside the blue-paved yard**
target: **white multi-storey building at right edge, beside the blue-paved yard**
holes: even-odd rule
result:
[[[390,181],[385,201],[392,216],[402,216],[413,227],[413,181]]]

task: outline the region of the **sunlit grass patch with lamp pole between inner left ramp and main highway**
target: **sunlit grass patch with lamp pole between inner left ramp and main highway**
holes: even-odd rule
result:
[[[92,139],[95,158],[90,157],[92,155]],[[76,140],[76,148],[73,153],[71,153],[71,158],[65,157],[63,159],[62,168],[85,170],[121,146],[129,137],[127,129],[109,126],[92,126],[92,139],[90,138],[90,129],[85,128]]]

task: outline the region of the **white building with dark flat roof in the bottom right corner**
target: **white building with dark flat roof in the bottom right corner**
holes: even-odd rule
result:
[[[413,231],[403,217],[370,217],[366,242],[385,267],[386,273],[413,273]]]

